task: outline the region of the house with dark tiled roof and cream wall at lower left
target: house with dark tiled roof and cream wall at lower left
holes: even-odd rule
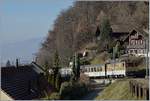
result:
[[[35,63],[18,66],[17,68],[1,68],[1,100],[31,100],[40,96],[45,90],[46,81],[43,70]]]

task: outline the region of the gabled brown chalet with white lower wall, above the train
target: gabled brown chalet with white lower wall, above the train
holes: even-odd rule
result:
[[[135,56],[146,56],[148,49],[148,34],[145,31],[132,30],[123,40],[126,53]]]

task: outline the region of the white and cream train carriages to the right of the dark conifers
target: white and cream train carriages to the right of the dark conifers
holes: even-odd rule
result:
[[[89,77],[124,77],[126,76],[125,62],[110,62],[103,65],[84,65],[81,67]]]

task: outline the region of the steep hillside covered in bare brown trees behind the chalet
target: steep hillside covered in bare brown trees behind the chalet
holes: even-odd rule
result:
[[[141,1],[76,1],[56,18],[53,29],[38,52],[38,63],[52,64],[57,49],[61,64],[67,66],[74,52],[95,40],[97,28],[107,16],[113,31],[130,32],[134,27],[148,28],[148,2]],[[103,45],[103,42],[99,42]],[[111,40],[110,40],[111,43]],[[98,45],[97,48],[103,48]]]

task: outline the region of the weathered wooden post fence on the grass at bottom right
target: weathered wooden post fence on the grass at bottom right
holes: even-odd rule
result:
[[[131,80],[129,82],[130,92],[132,96],[137,97],[138,99],[149,100],[149,87],[146,84],[137,82],[136,80]]]

